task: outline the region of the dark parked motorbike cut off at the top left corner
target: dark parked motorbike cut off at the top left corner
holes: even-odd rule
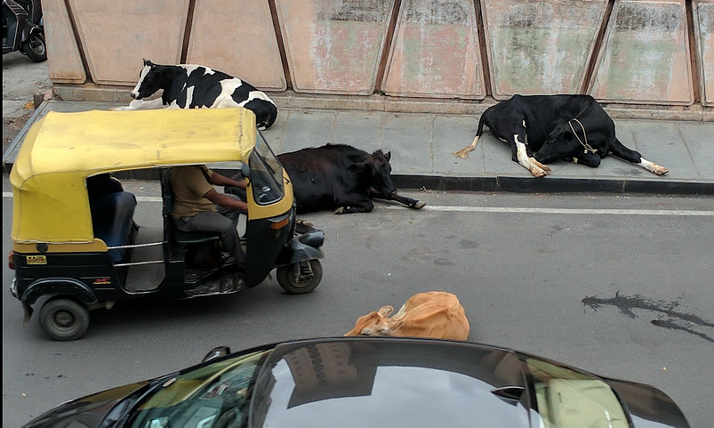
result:
[[[3,54],[15,51],[35,62],[47,60],[40,0],[3,0]]]

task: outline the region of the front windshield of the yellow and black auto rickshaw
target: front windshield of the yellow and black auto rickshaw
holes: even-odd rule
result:
[[[251,167],[251,187],[255,202],[258,205],[269,205],[282,199],[285,196],[283,166],[260,132],[248,162]]]

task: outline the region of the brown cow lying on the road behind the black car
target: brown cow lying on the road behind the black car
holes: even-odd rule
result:
[[[357,319],[355,327],[346,335],[379,335],[402,337],[431,337],[435,339],[466,340],[469,337],[469,320],[459,299],[451,293],[429,291],[413,295],[404,306],[394,311],[382,306]]]

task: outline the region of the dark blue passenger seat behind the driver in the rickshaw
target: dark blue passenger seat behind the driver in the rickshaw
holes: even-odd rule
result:
[[[132,227],[136,197],[128,191],[116,191],[91,198],[94,236],[103,240],[107,246],[128,246],[132,244]],[[127,254],[127,248],[109,250],[112,262],[121,262]]]

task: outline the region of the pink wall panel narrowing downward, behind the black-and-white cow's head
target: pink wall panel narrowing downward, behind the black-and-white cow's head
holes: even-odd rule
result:
[[[87,66],[100,85],[135,85],[141,60],[181,60],[189,0],[68,0]]]

